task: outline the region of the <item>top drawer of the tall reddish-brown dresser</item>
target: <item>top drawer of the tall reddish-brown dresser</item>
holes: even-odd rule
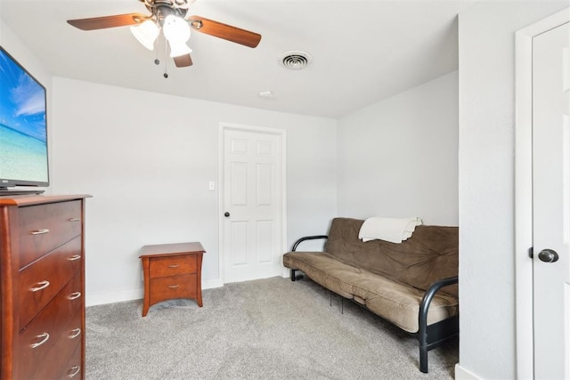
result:
[[[81,201],[20,207],[20,268],[81,234]]]

